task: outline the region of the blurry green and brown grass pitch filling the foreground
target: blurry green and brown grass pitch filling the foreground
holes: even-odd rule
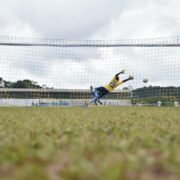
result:
[[[180,109],[0,108],[1,179],[180,179]]]

